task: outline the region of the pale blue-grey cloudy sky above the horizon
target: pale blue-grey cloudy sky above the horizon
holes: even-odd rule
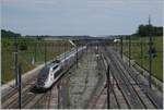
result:
[[[2,28],[22,35],[132,34],[163,24],[163,0],[1,0]]]

